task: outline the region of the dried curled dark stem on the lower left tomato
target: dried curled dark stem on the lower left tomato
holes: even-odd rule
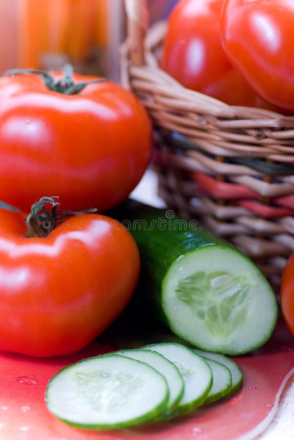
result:
[[[57,196],[42,197],[32,205],[31,212],[25,219],[28,237],[47,237],[57,224],[66,217],[97,212],[96,208],[89,208],[84,211],[58,211],[57,208],[60,203],[56,199],[58,199]],[[47,204],[51,205],[50,210],[45,207]]]

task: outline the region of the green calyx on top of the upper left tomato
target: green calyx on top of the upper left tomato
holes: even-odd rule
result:
[[[72,79],[73,68],[70,64],[64,65],[63,78],[60,79],[55,79],[44,70],[38,69],[10,69],[3,74],[3,76],[14,75],[39,75],[41,76],[42,80],[50,91],[63,93],[64,95],[77,95],[88,84],[104,83],[105,81],[108,81],[106,78],[102,78],[92,81],[84,81],[81,83],[74,83]]]

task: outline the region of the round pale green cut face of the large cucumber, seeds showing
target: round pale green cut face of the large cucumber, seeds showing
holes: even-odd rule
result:
[[[170,329],[194,347],[238,355],[273,333],[273,290],[245,255],[225,245],[199,247],[178,258],[162,286]]]

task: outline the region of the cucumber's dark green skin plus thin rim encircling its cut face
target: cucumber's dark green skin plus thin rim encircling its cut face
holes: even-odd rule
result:
[[[168,215],[170,213],[171,215]],[[223,352],[227,355],[241,355],[251,352],[271,337],[278,316],[276,299],[273,289],[256,264],[230,243],[214,237],[210,232],[198,227],[191,227],[189,221],[176,217],[172,211],[165,211],[150,207],[135,200],[127,200],[115,211],[108,214],[129,229],[141,256],[141,273],[131,305],[141,313],[152,315],[162,321],[174,334],[183,341],[202,350]],[[171,217],[171,218],[169,218]],[[158,227],[160,225],[160,227]],[[242,257],[247,261],[248,267],[252,266],[253,272],[260,281],[264,282],[273,295],[273,317],[262,340],[252,341],[244,346],[244,349],[219,349],[218,347],[205,346],[195,342],[189,335],[179,331],[174,320],[169,316],[164,301],[164,293],[172,267],[186,258],[189,254],[201,252],[204,249],[215,247],[216,250],[229,250],[236,258]],[[209,262],[208,262],[209,263]],[[275,304],[274,304],[275,303]]]

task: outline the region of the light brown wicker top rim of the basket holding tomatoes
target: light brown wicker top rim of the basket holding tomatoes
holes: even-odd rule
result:
[[[146,91],[152,87],[153,93],[159,92],[166,94],[169,99],[177,99],[183,107],[185,105],[187,108],[190,107],[191,111],[196,110],[222,119],[231,119],[232,129],[234,128],[234,119],[248,121],[249,127],[250,121],[253,119],[255,120],[254,127],[258,124],[261,128],[271,127],[283,130],[292,128],[294,130],[294,115],[284,115],[273,110],[256,107],[232,106],[204,93],[185,88],[159,66],[154,55],[154,50],[163,42],[166,30],[166,20],[156,22],[147,29],[143,41],[145,64],[141,66],[135,66],[131,62],[130,39],[126,38],[121,46],[121,78],[124,87],[145,88]],[[228,124],[226,128],[230,128]]]

